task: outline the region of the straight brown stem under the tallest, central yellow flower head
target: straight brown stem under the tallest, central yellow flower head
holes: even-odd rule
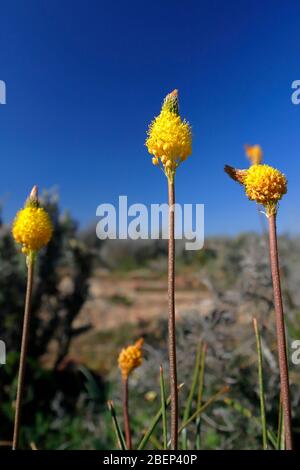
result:
[[[169,375],[171,393],[171,446],[178,444],[178,391],[176,366],[176,331],[175,331],[175,189],[174,177],[168,177],[169,190],[169,246],[168,246],[168,337],[169,337]]]

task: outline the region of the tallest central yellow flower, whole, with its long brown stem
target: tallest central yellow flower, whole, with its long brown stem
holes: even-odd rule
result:
[[[146,139],[152,163],[159,166],[168,178],[169,244],[168,244],[168,343],[171,394],[171,448],[178,444],[178,388],[175,332],[175,174],[178,166],[192,153],[192,131],[179,114],[178,90],[169,93],[161,112],[151,122]]]

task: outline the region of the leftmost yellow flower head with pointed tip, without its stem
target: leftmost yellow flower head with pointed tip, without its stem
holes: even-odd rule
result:
[[[49,243],[52,233],[50,217],[45,209],[40,207],[38,190],[34,186],[24,208],[15,217],[12,228],[13,237],[22,245],[23,253],[34,257]]]

